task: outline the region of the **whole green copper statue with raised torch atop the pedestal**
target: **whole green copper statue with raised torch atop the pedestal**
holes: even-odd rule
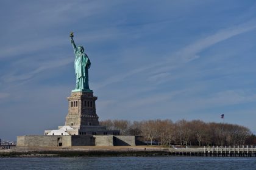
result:
[[[70,33],[71,38],[71,44],[73,45],[74,48],[74,54],[76,56],[75,61],[74,61],[74,67],[76,70],[76,89],[72,90],[73,92],[77,91],[87,91],[87,92],[92,92],[92,90],[89,89],[89,83],[88,83],[88,69],[90,69],[91,62],[84,53],[84,47],[82,46],[77,46],[74,43],[74,35],[73,32]]]

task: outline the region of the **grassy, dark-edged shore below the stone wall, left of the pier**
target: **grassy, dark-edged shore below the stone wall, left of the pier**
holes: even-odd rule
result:
[[[158,146],[12,147],[0,150],[0,157],[153,157],[168,155],[168,149]]]

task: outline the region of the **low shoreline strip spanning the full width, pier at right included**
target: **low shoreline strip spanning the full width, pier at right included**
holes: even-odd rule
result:
[[[0,157],[256,157],[256,148],[180,148],[165,146],[11,147]]]

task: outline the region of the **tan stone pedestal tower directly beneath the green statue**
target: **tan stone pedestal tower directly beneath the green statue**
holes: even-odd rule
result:
[[[66,116],[65,126],[73,129],[66,130],[71,135],[119,135],[119,130],[109,131],[105,126],[99,126],[99,117],[96,114],[95,101],[91,91],[71,92],[68,97],[68,115]],[[62,126],[59,126],[59,129]]]

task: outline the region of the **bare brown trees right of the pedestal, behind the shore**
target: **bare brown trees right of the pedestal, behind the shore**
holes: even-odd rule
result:
[[[144,141],[161,145],[245,145],[256,144],[250,129],[238,124],[205,123],[201,120],[104,120],[102,126],[109,130],[119,129],[121,135],[141,135]]]

